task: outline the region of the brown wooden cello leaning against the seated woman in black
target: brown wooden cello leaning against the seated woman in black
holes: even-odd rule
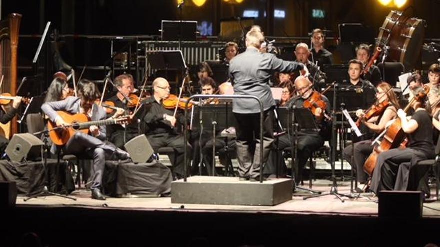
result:
[[[429,87],[423,87],[423,90],[418,92],[417,95],[415,95],[414,98],[409,101],[403,111],[407,112],[415,101],[424,99],[428,92]],[[363,170],[370,176],[373,174],[374,168],[376,167],[377,157],[379,154],[381,152],[401,146],[402,142],[406,138],[406,133],[402,129],[401,119],[397,117],[395,121],[387,129],[385,129],[382,134],[379,135],[379,137],[380,136],[383,136],[382,140],[378,142],[379,145],[374,146],[373,152],[368,156],[368,159],[363,165]]]

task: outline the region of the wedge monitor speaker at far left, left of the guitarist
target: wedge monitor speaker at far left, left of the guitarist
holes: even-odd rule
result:
[[[14,134],[6,148],[11,161],[21,162],[41,157],[41,146],[44,143],[30,133]]]

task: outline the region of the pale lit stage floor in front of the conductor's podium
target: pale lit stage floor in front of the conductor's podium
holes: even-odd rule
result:
[[[307,182],[308,181],[304,181]],[[305,185],[304,185],[305,186]],[[331,188],[331,181],[320,179],[313,183],[313,189],[328,192]],[[348,194],[350,182],[338,182],[339,193]],[[334,195],[326,195],[317,198],[303,200],[302,195],[305,191],[295,193],[292,200],[275,206],[239,206],[239,205],[205,205],[205,204],[173,204],[171,197],[130,197],[107,198],[106,201],[98,201],[90,198],[90,191],[85,189],[76,190],[70,196],[77,198],[76,201],[57,196],[46,196],[30,199],[24,202],[24,195],[17,197],[17,206],[30,207],[86,207],[86,208],[117,208],[122,210],[186,210],[186,211],[237,211],[237,212],[259,212],[259,213],[279,213],[279,214],[326,214],[326,215],[349,215],[349,216],[371,216],[376,217],[378,204],[377,197],[370,193],[361,194],[362,197],[349,199],[343,197],[345,202],[341,202]],[[353,194],[358,195],[358,194]],[[432,191],[434,194],[434,190]],[[423,217],[440,217],[440,201],[424,203]]]

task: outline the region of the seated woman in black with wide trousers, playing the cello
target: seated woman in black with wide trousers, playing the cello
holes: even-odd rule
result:
[[[378,193],[380,190],[418,190],[418,182],[425,175],[427,169],[416,172],[418,178],[410,179],[409,171],[418,161],[433,159],[435,157],[432,141],[432,119],[425,109],[427,98],[426,89],[411,84],[409,88],[416,100],[411,100],[415,112],[410,119],[405,111],[399,109],[397,116],[401,120],[401,129],[409,140],[407,148],[394,148],[380,153],[377,157],[376,167],[372,174],[371,190]],[[429,195],[428,188],[420,188]]]

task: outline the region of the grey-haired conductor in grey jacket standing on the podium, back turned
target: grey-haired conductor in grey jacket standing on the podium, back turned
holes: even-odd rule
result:
[[[234,99],[233,113],[237,125],[237,156],[240,180],[259,180],[261,164],[267,160],[273,142],[273,109],[275,100],[269,86],[269,79],[275,71],[291,73],[307,68],[297,62],[278,59],[275,55],[259,51],[263,34],[252,29],[246,34],[245,52],[230,61],[229,76],[235,95],[254,95],[264,107],[263,162],[260,161],[260,107],[254,99]]]

